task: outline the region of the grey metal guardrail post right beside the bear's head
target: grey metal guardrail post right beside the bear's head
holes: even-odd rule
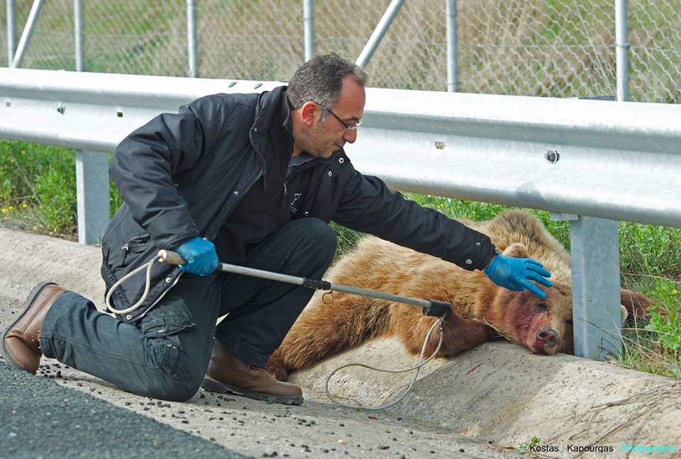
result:
[[[617,222],[570,221],[575,356],[602,360],[622,349]]]

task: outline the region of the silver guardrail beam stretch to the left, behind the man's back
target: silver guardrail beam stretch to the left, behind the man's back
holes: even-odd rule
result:
[[[112,153],[158,113],[206,94],[282,84],[0,68],[0,137]]]

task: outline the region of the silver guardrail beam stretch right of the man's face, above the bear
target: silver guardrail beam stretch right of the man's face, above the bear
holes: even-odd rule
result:
[[[402,191],[681,227],[681,106],[370,89],[362,172]]]

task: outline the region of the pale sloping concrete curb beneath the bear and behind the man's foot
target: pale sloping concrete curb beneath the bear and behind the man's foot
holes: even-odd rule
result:
[[[18,310],[40,280],[103,303],[98,248],[6,229],[0,229],[0,244],[6,248],[0,254],[0,302],[9,309]],[[361,362],[396,369],[416,360],[397,339],[377,339],[295,373],[292,382],[304,387],[306,399],[328,403],[324,381],[338,366]],[[331,392],[353,404],[382,404],[410,380],[411,373],[350,368],[333,378]],[[537,437],[551,447],[541,453],[555,457],[624,457],[626,445],[672,446],[681,457],[681,381],[574,356],[534,356],[502,342],[426,365],[413,392],[381,416],[508,446]]]

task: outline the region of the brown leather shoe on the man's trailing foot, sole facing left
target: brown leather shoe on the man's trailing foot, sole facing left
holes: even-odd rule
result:
[[[40,329],[50,306],[66,290],[53,282],[35,285],[26,298],[23,314],[2,335],[2,355],[19,370],[35,374],[40,365]]]

